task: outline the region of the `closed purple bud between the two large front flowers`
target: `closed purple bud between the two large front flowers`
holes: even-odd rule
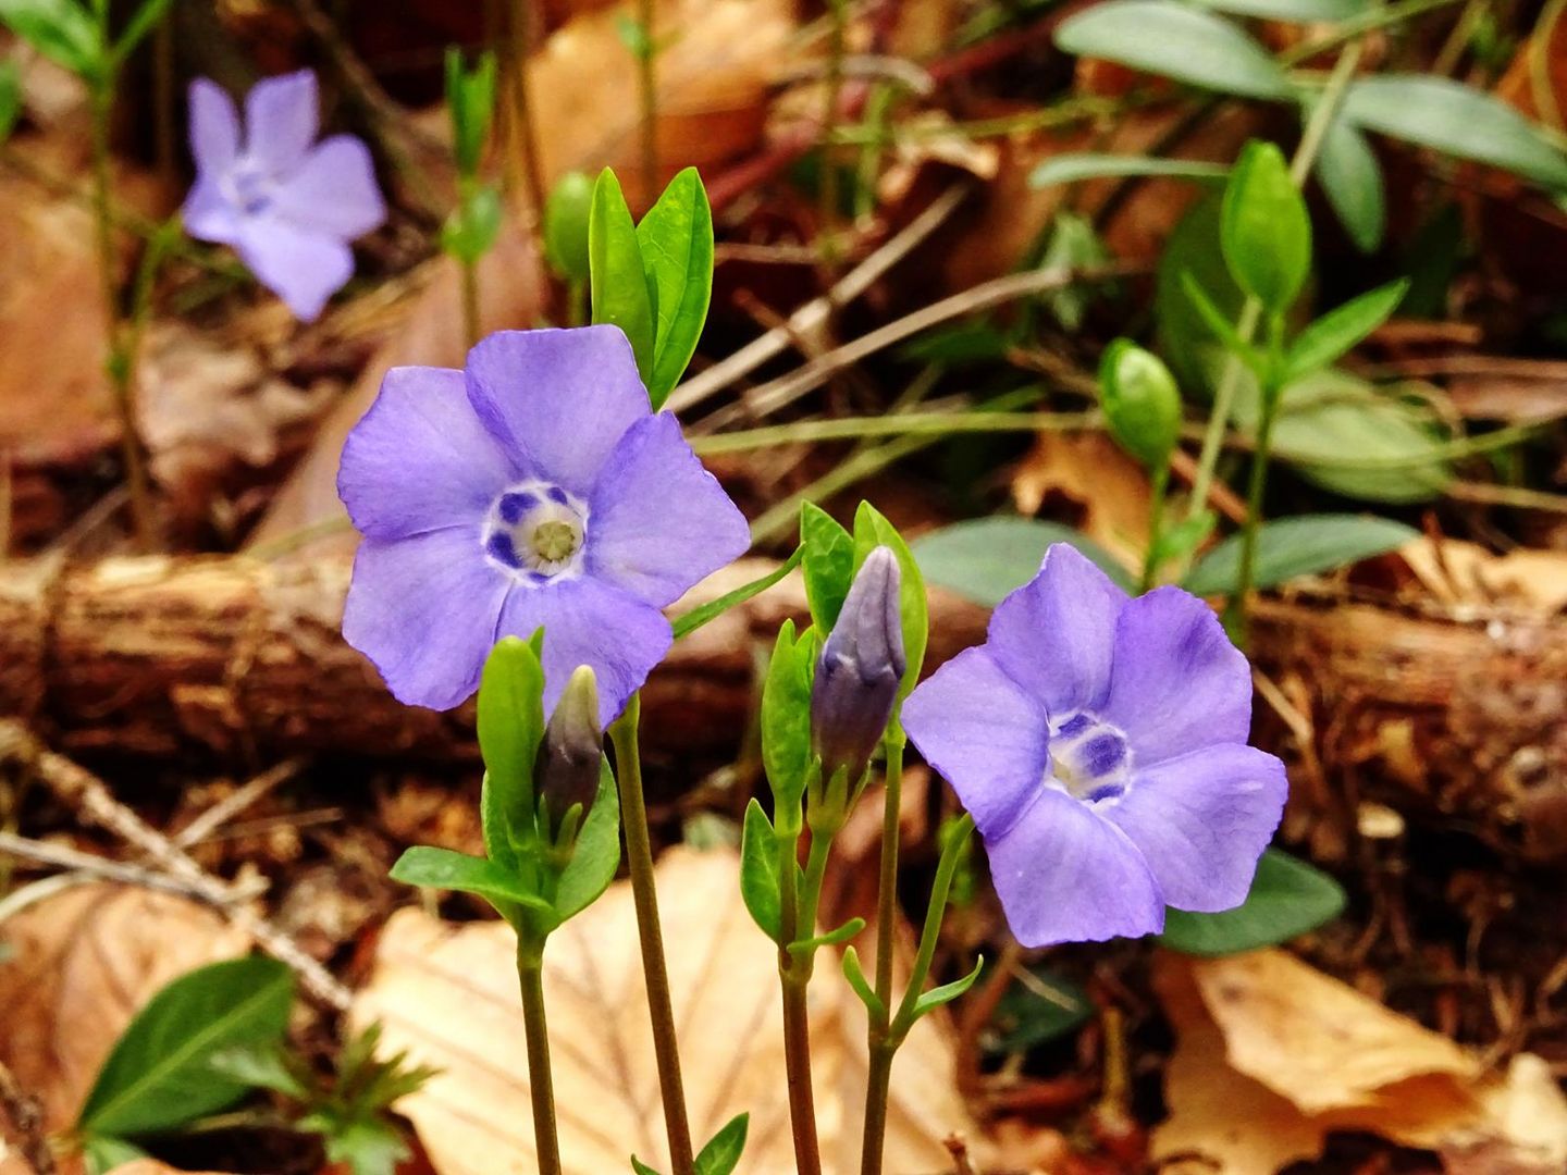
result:
[[[887,730],[903,680],[898,556],[878,547],[860,566],[838,622],[821,649],[810,692],[810,736],[821,772],[865,769]]]

